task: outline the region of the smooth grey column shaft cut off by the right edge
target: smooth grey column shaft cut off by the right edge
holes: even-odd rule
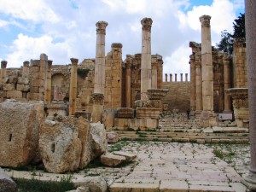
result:
[[[251,163],[249,173],[245,177],[245,182],[249,189],[256,190],[256,1],[246,0],[246,38],[247,38],[247,83],[249,102],[249,127],[250,127],[250,147]]]

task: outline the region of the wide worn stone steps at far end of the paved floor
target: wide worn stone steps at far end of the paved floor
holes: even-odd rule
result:
[[[233,125],[233,126],[232,126]],[[200,119],[188,119],[185,113],[173,113],[160,119],[156,131],[118,131],[122,140],[189,142],[189,143],[249,143],[247,128],[232,122],[221,122],[216,127],[200,127]]]

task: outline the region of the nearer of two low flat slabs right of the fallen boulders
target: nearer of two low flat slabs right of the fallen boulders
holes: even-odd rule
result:
[[[125,161],[124,156],[120,156],[116,154],[102,154],[101,156],[101,162],[105,166],[119,166],[124,161]]]

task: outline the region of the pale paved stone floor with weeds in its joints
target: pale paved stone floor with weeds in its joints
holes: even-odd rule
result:
[[[121,142],[110,145],[109,149],[137,154],[137,160],[118,168],[91,165],[73,174],[73,181],[79,177],[102,176],[111,192],[247,191],[241,184],[241,176],[248,170],[249,145]],[[12,177],[33,175],[44,180],[63,177],[42,172],[8,173]]]

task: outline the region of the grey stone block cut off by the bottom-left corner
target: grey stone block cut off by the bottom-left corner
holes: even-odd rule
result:
[[[15,192],[17,184],[0,167],[0,192]]]

